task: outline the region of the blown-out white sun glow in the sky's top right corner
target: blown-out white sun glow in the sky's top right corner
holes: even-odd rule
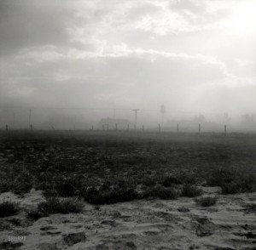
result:
[[[250,35],[256,32],[256,1],[239,3],[226,25],[237,35]]]

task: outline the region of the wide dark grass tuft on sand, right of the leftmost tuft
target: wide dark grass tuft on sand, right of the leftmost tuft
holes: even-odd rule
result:
[[[50,197],[46,202],[38,204],[38,213],[51,214],[51,213],[81,213],[84,204],[74,199],[60,199]]]

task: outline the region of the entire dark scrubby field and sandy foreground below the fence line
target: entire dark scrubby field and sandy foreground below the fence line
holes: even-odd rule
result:
[[[251,134],[0,134],[0,249],[256,249]]]

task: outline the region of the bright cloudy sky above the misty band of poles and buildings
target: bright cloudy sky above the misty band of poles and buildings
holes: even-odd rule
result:
[[[255,0],[0,0],[0,106],[256,111]]]

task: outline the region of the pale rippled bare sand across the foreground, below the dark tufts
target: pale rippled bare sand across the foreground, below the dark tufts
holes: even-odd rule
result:
[[[204,188],[204,192],[215,194],[218,188]],[[23,198],[3,193],[0,199],[20,202],[26,209],[44,201],[36,190]],[[0,219],[0,246],[24,250],[256,249],[255,213],[245,210],[252,203],[256,203],[256,193],[218,195],[212,207],[200,207],[192,198],[124,202],[99,210],[86,203],[84,213],[53,214],[35,222],[21,211]],[[15,240],[9,241],[9,236]]]

